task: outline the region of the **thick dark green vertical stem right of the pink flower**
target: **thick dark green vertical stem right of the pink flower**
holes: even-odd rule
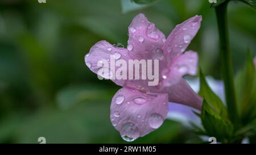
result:
[[[221,76],[225,86],[226,105],[228,107],[229,119],[236,126],[238,123],[238,112],[234,91],[232,57],[229,48],[227,5],[228,1],[222,3],[215,8],[215,12],[220,36]]]

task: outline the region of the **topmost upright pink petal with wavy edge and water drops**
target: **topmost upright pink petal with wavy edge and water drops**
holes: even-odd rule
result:
[[[163,55],[163,45],[166,42],[164,34],[148,22],[144,14],[135,16],[129,26],[127,49],[129,55],[137,60],[160,60],[160,68],[166,66]]]

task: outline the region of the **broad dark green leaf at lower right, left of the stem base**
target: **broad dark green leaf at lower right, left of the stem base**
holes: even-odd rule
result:
[[[222,119],[204,99],[201,121],[208,136],[216,137],[217,141],[227,142],[233,133],[233,125]]]

